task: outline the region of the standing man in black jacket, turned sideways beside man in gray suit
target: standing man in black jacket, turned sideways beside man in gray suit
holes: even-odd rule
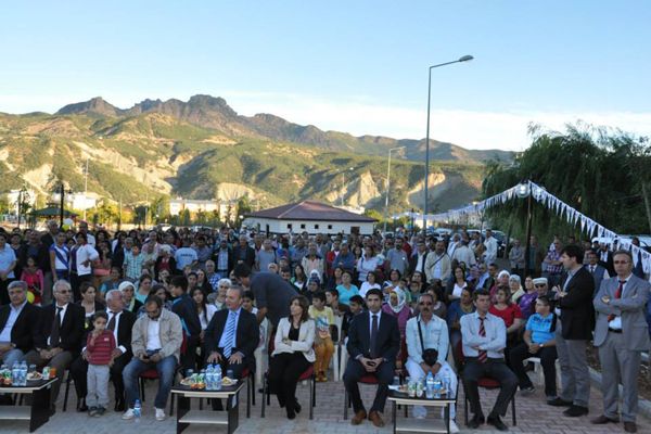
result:
[[[563,414],[576,418],[588,413],[590,397],[590,374],[586,346],[592,337],[592,294],[595,280],[583,266],[583,250],[574,244],[561,251],[561,261],[566,276],[557,293],[556,344],[563,388],[561,395],[547,401],[554,407],[570,407]]]

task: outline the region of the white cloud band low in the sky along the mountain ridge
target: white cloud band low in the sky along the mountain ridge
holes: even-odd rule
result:
[[[98,92],[99,94],[100,92]],[[150,98],[177,98],[188,100],[192,92],[149,95]],[[209,93],[209,92],[204,92]],[[323,130],[350,132],[354,136],[387,136],[397,139],[425,137],[426,111],[374,103],[365,95],[352,95],[346,100],[320,97],[255,91],[213,91],[224,97],[240,114],[271,113],[301,125],[315,125]],[[146,95],[124,92],[103,94],[104,99],[119,107],[129,107]],[[47,111],[53,113],[65,104],[88,100],[89,95],[0,95],[0,111],[26,113]],[[552,130],[563,130],[567,123],[583,120],[595,126],[618,128],[623,131],[651,136],[651,112],[544,112],[514,110],[509,112],[478,112],[436,108],[431,113],[432,139],[451,142],[468,149],[502,149],[522,151],[529,143],[527,127],[540,124]]]

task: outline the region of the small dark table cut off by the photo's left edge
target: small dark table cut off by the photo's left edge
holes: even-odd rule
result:
[[[26,386],[0,386],[0,394],[31,395],[30,406],[0,406],[0,420],[29,421],[33,433],[50,420],[50,395],[58,379],[28,381]]]

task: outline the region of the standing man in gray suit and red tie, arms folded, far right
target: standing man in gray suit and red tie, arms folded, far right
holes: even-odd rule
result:
[[[633,276],[630,252],[615,252],[613,265],[616,276],[601,283],[593,301],[597,310],[595,346],[599,347],[603,375],[603,414],[593,419],[592,423],[620,421],[617,401],[621,379],[624,385],[624,431],[635,433],[641,353],[650,347],[644,309],[651,285]]]

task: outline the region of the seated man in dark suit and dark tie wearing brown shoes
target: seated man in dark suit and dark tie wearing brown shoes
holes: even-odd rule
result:
[[[384,411],[388,385],[393,381],[396,355],[400,347],[400,331],[395,317],[382,314],[382,291],[369,290],[366,294],[369,310],[354,317],[348,329],[346,348],[350,358],[344,373],[344,384],[355,411],[350,420],[354,425],[367,418],[357,383],[363,375],[371,373],[378,378],[379,384],[369,420],[378,427],[384,426],[380,413]]]

